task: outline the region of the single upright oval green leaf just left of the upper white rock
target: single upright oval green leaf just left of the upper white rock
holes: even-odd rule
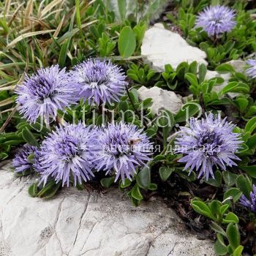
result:
[[[124,59],[127,59],[135,52],[135,48],[136,38],[134,31],[129,26],[125,26],[118,38],[118,51]]]

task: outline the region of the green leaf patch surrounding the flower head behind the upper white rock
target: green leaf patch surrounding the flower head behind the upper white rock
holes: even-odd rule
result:
[[[222,4],[220,1],[178,1],[177,12],[167,14],[167,18],[181,29],[191,45],[199,46],[206,52],[209,68],[214,69],[225,61],[249,56],[256,51],[256,22],[249,12],[245,11],[248,1],[229,1],[236,10],[236,27],[221,38],[209,38],[206,31],[195,29],[195,20],[198,12],[209,4]]]

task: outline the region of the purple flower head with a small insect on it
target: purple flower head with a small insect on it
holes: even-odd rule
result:
[[[150,143],[142,129],[133,124],[108,124],[95,132],[94,168],[116,173],[124,183],[124,178],[132,179],[136,167],[145,166],[150,160],[153,143]]]

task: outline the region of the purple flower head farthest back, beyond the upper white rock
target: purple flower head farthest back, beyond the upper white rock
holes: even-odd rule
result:
[[[196,27],[203,28],[208,36],[231,31],[236,26],[235,12],[225,6],[206,7],[197,16]]]

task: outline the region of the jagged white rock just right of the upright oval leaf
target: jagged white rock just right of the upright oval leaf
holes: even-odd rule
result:
[[[179,34],[165,29],[162,23],[154,24],[146,31],[141,55],[157,72],[165,70],[165,64],[171,64],[176,69],[182,61],[208,64],[203,50],[192,47]]]

